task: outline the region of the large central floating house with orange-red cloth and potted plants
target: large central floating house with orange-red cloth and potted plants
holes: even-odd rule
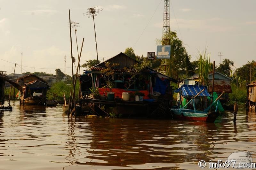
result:
[[[110,69],[112,74],[106,80],[102,70],[106,69],[106,63],[108,62],[117,65]],[[168,107],[172,104],[172,86],[170,86],[170,82],[177,83],[177,81],[154,71],[148,66],[136,75],[127,71],[127,68],[132,68],[136,64],[141,65],[139,61],[121,52],[105,62],[84,70],[84,74],[80,77],[81,96],[98,93],[100,97],[94,96],[89,103],[96,108],[104,108],[103,112],[105,113],[110,112],[123,116],[147,115],[159,117],[160,114],[164,117],[170,116],[171,113],[169,113]],[[134,100],[134,96],[140,96],[140,99],[138,100],[137,97]],[[93,107],[93,111],[96,111],[95,107]]]

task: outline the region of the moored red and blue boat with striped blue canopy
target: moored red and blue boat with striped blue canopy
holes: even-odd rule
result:
[[[196,110],[196,103],[195,103],[195,97],[201,96],[201,97],[211,97],[209,92],[207,91],[207,88],[205,86],[197,86],[197,85],[182,85],[179,89],[175,90],[174,92],[180,93],[180,97],[190,98],[191,100],[182,106],[180,105],[178,107],[171,108],[171,112],[173,115],[173,118],[180,119],[180,120],[191,120],[191,121],[202,121],[202,122],[214,122],[216,118],[220,115],[218,111],[218,104],[219,104],[219,98],[222,93],[210,106],[208,106],[204,111]],[[193,104],[193,109],[186,109],[189,103]],[[210,111],[212,105],[217,102],[215,111]],[[209,112],[210,111],[210,112]]]

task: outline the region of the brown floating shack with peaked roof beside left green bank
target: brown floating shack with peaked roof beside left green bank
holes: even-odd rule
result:
[[[17,79],[17,84],[22,87],[20,90],[20,104],[44,105],[46,102],[47,90],[50,86],[44,79],[34,74],[22,76]]]

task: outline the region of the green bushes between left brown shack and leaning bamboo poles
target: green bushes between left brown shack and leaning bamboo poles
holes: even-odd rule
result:
[[[63,91],[65,91],[65,96],[66,99],[69,98],[70,95],[70,90],[73,89],[73,85],[72,84],[66,84],[63,81],[60,82],[56,82],[52,85],[51,89],[49,89],[49,93],[47,93],[47,98],[48,99],[56,99],[56,96],[53,96],[53,94],[56,94],[60,97],[58,97],[58,100],[63,100]],[[76,96],[78,96],[78,92],[79,92],[79,80],[76,81]],[[51,92],[51,93],[50,93]]]

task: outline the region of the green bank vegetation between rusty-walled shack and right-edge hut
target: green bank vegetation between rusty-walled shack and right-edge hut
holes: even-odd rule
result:
[[[229,94],[229,104],[234,104],[235,100],[238,104],[245,104],[246,102],[246,86],[236,87],[236,84],[231,84],[232,93]]]

